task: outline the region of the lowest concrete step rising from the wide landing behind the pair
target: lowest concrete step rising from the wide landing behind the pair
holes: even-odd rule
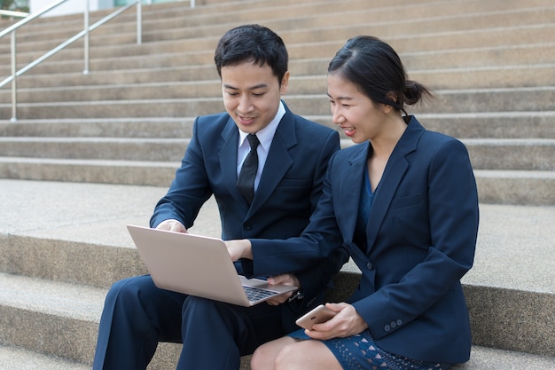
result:
[[[120,185],[165,186],[179,161],[101,161],[0,157],[0,178]],[[489,204],[555,205],[555,172],[474,170],[480,201]]]

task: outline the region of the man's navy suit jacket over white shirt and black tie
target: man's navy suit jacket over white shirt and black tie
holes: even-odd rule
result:
[[[194,122],[182,166],[154,210],[151,227],[169,218],[179,220],[186,228],[192,227],[202,204],[214,195],[223,240],[298,236],[316,209],[327,163],[339,147],[337,131],[295,115],[285,106],[285,115],[277,126],[260,184],[249,207],[235,186],[238,177],[235,122],[225,113],[199,117]],[[286,327],[295,329],[293,322],[300,312],[323,299],[322,292],[332,274],[346,260],[347,254],[343,251],[309,269],[304,265],[295,274],[301,281],[305,298],[282,304],[284,309],[288,308],[282,316]],[[249,275],[244,268],[253,269],[250,261],[236,266],[241,274]],[[279,273],[291,271],[286,264],[281,267]]]

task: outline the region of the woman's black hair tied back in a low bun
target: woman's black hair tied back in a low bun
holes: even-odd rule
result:
[[[405,106],[418,103],[423,96],[432,97],[426,86],[407,79],[395,50],[373,36],[349,39],[333,57],[328,74],[339,74],[372,101],[393,106],[404,114]]]

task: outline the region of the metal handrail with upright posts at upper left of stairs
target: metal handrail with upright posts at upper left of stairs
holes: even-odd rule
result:
[[[11,120],[12,122],[17,121],[17,77],[19,77],[20,75],[23,75],[24,73],[26,73],[32,67],[35,67],[39,63],[43,62],[43,60],[50,58],[52,55],[56,54],[58,51],[64,49],[67,45],[69,45],[70,43],[74,43],[74,41],[78,40],[79,38],[81,38],[83,36],[85,37],[85,39],[84,39],[84,64],[85,64],[85,67],[84,67],[84,70],[83,70],[83,74],[88,75],[89,74],[89,33],[90,33],[90,31],[93,31],[94,29],[102,26],[108,20],[112,20],[113,18],[120,15],[122,12],[127,11],[130,7],[135,6],[135,5],[137,5],[137,44],[142,43],[141,35],[143,33],[143,31],[142,31],[143,26],[142,26],[142,2],[141,2],[141,0],[136,0],[135,2],[132,2],[130,4],[127,4],[123,7],[121,7],[116,12],[113,12],[113,13],[107,15],[102,20],[98,20],[98,22],[96,22],[92,26],[89,26],[89,0],[87,0],[87,4],[85,6],[85,12],[84,12],[84,29],[80,33],[78,33],[77,35],[74,35],[73,37],[69,38],[64,43],[60,43],[57,47],[55,47],[51,51],[46,52],[42,57],[40,57],[38,59],[35,59],[31,63],[29,63],[26,67],[23,67],[18,71],[17,66],[16,66],[16,30],[18,28],[20,28],[21,26],[27,24],[31,20],[35,20],[35,18],[40,17],[41,15],[43,15],[43,13],[51,11],[52,9],[57,7],[59,4],[65,3],[66,1],[68,1],[68,0],[58,0],[55,3],[53,3],[49,6],[47,6],[46,8],[44,8],[42,11],[31,14],[27,18],[25,18],[23,20],[20,20],[19,22],[13,24],[11,27],[6,28],[6,29],[4,29],[4,31],[0,32],[0,38],[4,37],[4,35],[8,35],[8,34],[12,35],[12,40],[11,40],[12,75],[10,77],[4,79],[4,81],[0,83],[0,88],[2,88],[5,84],[12,82],[12,120]]]

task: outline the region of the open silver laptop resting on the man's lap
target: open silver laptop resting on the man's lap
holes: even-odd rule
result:
[[[223,240],[131,224],[127,228],[157,287],[246,307],[297,289],[238,275]]]

